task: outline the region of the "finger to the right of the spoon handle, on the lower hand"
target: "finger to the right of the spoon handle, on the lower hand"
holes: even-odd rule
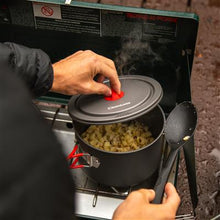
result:
[[[165,186],[165,193],[167,194],[167,198],[164,200],[163,204],[168,204],[175,211],[177,211],[180,204],[180,197],[174,185],[167,183]]]

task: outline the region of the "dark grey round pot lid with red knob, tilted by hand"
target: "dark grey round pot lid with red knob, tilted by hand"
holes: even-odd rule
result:
[[[135,119],[152,110],[161,100],[160,84],[146,76],[120,76],[121,94],[112,96],[75,95],[68,111],[73,120],[84,124],[111,124]],[[109,80],[104,82],[109,86]]]

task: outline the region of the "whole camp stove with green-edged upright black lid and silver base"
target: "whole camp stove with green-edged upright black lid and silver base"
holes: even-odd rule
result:
[[[115,61],[119,74],[146,75],[156,79],[163,88],[160,106],[166,115],[176,104],[191,100],[190,75],[198,30],[198,17],[193,13],[64,0],[24,1],[12,5],[1,1],[0,7],[0,26],[4,29],[1,42],[12,41],[41,48],[52,62],[78,50],[89,49],[106,56]],[[74,128],[66,109],[69,98],[48,93],[37,101],[62,143],[65,155],[75,145]],[[189,144],[184,147],[184,155],[195,208],[197,188],[193,141]],[[80,169],[71,172],[77,188],[76,214],[93,219],[111,219],[114,209],[130,191],[140,187],[152,188],[157,177],[136,187],[115,189],[100,186]],[[175,165],[170,175],[174,184],[177,172]]]

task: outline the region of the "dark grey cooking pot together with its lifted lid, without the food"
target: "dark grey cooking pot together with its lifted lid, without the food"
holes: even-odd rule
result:
[[[77,160],[80,164],[85,164],[85,161],[88,163],[87,167],[77,167],[84,167],[87,176],[100,184],[127,187],[143,182],[158,171],[165,115],[158,105],[162,88],[157,81],[138,75],[119,79],[123,97],[112,101],[111,97],[106,99],[100,95],[73,96],[68,104],[68,111],[73,119],[78,155],[82,156]],[[81,134],[91,124],[111,124],[133,119],[147,125],[155,138],[152,143],[138,150],[104,151],[89,145],[81,138]],[[73,155],[74,157],[76,156]]]

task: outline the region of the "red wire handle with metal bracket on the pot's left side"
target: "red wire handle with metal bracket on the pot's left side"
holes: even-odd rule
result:
[[[98,168],[100,165],[99,160],[91,156],[88,153],[77,153],[78,145],[76,144],[72,150],[72,152],[66,157],[67,160],[71,160],[71,164],[69,166],[70,169],[84,168],[84,167],[95,167]],[[87,162],[87,164],[77,164],[79,161],[79,157],[83,157],[83,159]]]

